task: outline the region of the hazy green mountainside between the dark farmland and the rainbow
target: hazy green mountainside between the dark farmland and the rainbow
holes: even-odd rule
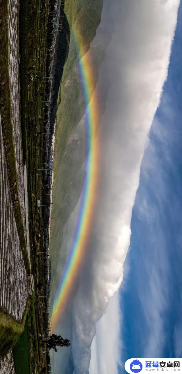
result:
[[[53,220],[51,220],[50,236],[51,295],[54,295],[56,291],[62,268],[66,262],[65,238],[68,233],[65,224],[78,203],[85,177],[85,129],[83,119],[85,107],[78,72],[78,58],[81,56],[78,56],[73,34],[76,34],[82,52],[87,52],[90,49],[89,53],[93,67],[91,92],[93,92],[97,85],[99,68],[105,58],[114,28],[114,19],[113,22],[108,22],[104,27],[98,28],[102,6],[103,0],[65,1],[65,13],[69,22],[70,37],[68,58],[65,63],[57,102]],[[106,107],[110,86],[109,73],[105,81],[105,87],[100,92],[101,97],[99,98],[100,118]]]

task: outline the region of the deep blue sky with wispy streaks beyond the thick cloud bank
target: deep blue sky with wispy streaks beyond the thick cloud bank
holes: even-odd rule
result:
[[[132,213],[120,288],[123,363],[133,357],[182,355],[181,103],[182,4]]]

